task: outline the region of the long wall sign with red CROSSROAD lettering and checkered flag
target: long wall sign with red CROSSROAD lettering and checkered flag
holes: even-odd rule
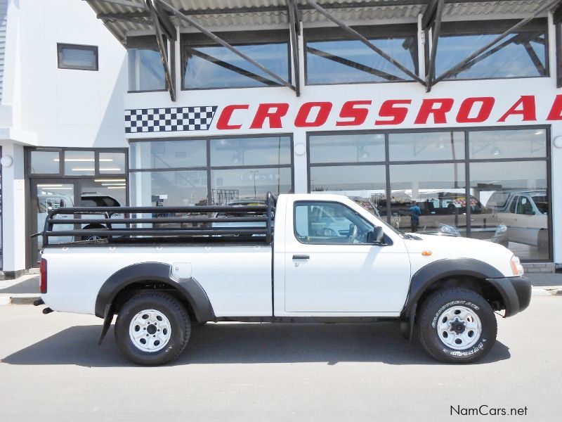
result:
[[[511,98],[511,99],[510,99]],[[218,118],[214,122],[215,114]],[[350,99],[348,101],[248,102],[225,106],[125,110],[126,133],[263,131],[294,128],[497,125],[562,120],[562,94],[521,96]]]

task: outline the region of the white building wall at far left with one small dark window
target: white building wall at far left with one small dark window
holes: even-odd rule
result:
[[[0,44],[0,268],[12,278],[34,267],[37,221],[30,222],[46,205],[30,196],[31,151],[126,150],[126,51],[88,4],[74,0],[0,1]],[[96,70],[86,70],[93,63]],[[51,176],[52,184],[64,184],[64,173]]]

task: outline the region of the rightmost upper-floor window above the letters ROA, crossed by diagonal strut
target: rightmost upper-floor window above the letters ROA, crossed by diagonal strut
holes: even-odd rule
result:
[[[439,77],[462,62],[516,22],[489,22],[481,30],[475,30],[472,22],[443,23],[437,47],[436,75]],[[548,76],[546,39],[547,20],[536,19],[507,35],[446,79]]]

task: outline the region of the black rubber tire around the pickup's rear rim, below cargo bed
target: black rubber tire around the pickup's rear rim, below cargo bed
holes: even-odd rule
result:
[[[130,333],[133,329],[133,319],[138,318],[141,312],[149,310],[154,311],[153,314],[165,316],[170,328],[167,343],[162,349],[153,352],[141,350],[134,343]],[[131,362],[140,365],[162,365],[173,361],[185,349],[190,333],[188,312],[181,302],[166,293],[141,293],[133,296],[123,305],[115,322],[115,340],[119,350]]]

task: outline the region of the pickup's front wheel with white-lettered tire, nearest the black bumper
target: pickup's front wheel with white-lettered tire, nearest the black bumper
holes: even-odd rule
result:
[[[485,299],[465,288],[439,290],[421,307],[419,340],[441,362],[466,364],[482,359],[495,343],[497,321]]]

